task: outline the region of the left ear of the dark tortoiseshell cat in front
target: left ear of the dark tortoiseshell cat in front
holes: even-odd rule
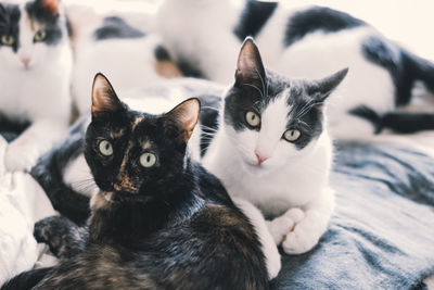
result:
[[[117,98],[108,79],[103,74],[98,73],[92,86],[92,116],[97,117],[104,113],[113,114],[123,110],[125,110],[125,106]]]

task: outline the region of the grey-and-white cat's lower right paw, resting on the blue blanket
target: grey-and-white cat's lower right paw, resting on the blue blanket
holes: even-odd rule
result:
[[[299,223],[290,231],[282,249],[286,254],[302,254],[311,250],[319,241],[320,235],[308,223]]]

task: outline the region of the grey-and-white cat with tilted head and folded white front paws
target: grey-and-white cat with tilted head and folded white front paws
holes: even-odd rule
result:
[[[232,198],[252,202],[270,218],[275,241],[286,253],[312,249],[333,212],[324,102],[347,71],[316,81],[288,79],[265,70],[247,38],[203,159]]]

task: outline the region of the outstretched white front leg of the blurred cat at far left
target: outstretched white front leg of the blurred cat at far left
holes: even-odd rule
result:
[[[11,172],[28,172],[38,157],[49,150],[66,131],[67,123],[58,119],[36,121],[12,141],[4,155],[4,165]]]

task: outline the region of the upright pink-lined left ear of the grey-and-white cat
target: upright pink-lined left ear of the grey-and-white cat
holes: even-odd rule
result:
[[[266,73],[259,50],[252,37],[245,38],[237,62],[235,80],[239,85],[255,80],[264,81]]]

